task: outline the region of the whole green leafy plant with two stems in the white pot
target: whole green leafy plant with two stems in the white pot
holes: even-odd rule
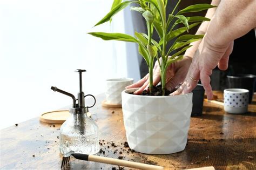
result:
[[[181,0],[177,2],[172,13],[166,16],[166,5],[168,0],[138,0],[125,2],[122,2],[122,0],[114,0],[110,12],[107,13],[107,15],[95,26],[108,21],[111,22],[112,17],[116,15],[116,13],[126,8],[128,5],[136,3],[138,6],[131,6],[131,10],[142,13],[147,25],[147,35],[142,32],[135,32],[135,37],[124,33],[89,32],[89,34],[104,40],[121,40],[124,42],[137,43],[139,45],[139,53],[143,56],[149,67],[150,92],[153,87],[153,64],[154,58],[156,57],[160,66],[161,88],[164,96],[167,67],[170,66],[171,63],[183,58],[183,52],[191,46],[190,43],[195,42],[204,36],[183,35],[183,33],[186,31],[188,32],[188,30],[204,21],[210,21],[209,18],[200,16],[185,17],[183,13],[198,12],[215,7],[210,4],[196,4],[187,6],[185,9],[176,12],[180,1]],[[183,24],[184,26],[173,30],[178,24]],[[160,40],[158,42],[152,39],[154,30],[156,30],[159,36]],[[167,44],[174,38],[177,39],[171,44],[169,49],[166,49]],[[177,50],[177,52],[169,57],[170,53],[174,50]],[[161,62],[159,56],[162,58]]]

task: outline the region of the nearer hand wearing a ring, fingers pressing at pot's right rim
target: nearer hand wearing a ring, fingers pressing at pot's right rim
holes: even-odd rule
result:
[[[191,92],[194,87],[197,86],[197,81],[201,79],[201,83],[207,94],[207,99],[211,100],[213,96],[212,87],[210,85],[212,70],[217,65],[220,70],[226,70],[232,50],[233,41],[226,45],[218,46],[204,37],[193,57],[184,83],[171,95]]]

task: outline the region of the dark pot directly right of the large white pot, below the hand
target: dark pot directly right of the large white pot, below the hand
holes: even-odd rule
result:
[[[193,92],[193,107],[191,116],[202,115],[203,114],[203,105],[204,105],[204,94],[205,90],[203,85],[198,84],[197,87],[192,91]]]

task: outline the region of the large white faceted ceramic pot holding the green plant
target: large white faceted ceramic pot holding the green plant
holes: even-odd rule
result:
[[[140,96],[122,92],[127,142],[146,154],[183,151],[187,143],[192,111],[192,93],[180,96]]]

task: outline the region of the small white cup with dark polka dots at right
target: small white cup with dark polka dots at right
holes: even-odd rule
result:
[[[224,110],[227,113],[241,114],[248,110],[249,91],[247,89],[225,89]]]

